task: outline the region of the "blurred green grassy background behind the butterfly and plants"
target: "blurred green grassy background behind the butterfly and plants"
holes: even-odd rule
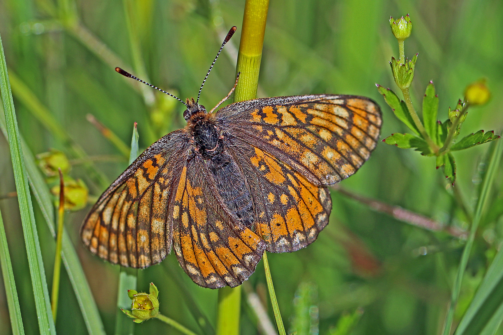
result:
[[[129,66],[134,74],[182,99],[197,96],[223,37],[235,25],[237,33],[210,74],[201,102],[211,108],[232,87],[243,0],[61,0],[60,3],[60,8],[66,8],[66,21],[54,19],[60,14],[51,0],[0,2],[0,33],[9,71],[48,108],[108,182],[126,168],[127,159],[87,121],[88,114],[128,146],[133,122],[137,122],[140,149],[185,124],[181,103],[146,86],[136,86],[113,67]],[[272,0],[258,96],[366,95],[382,106],[383,138],[405,131],[374,83],[396,89],[388,61],[391,56],[397,57],[398,52],[388,19],[390,15],[398,17],[406,13],[410,13],[413,29],[405,42],[405,53],[408,57],[419,53],[411,89],[416,108],[421,106],[427,83],[433,80],[440,97],[439,118],[444,120],[448,107],[454,107],[463,97],[464,87],[486,78],[492,98],[487,105],[470,109],[461,135],[479,129],[500,134],[503,3],[499,0]],[[32,152],[62,150],[71,159],[70,175],[85,181],[92,199],[99,196],[106,182],[97,182],[98,178],[90,175],[82,159],[44,127],[26,100],[20,98],[14,87],[13,90],[20,132]],[[489,145],[477,146],[455,154],[456,187],[469,210],[476,201],[483,170],[481,162],[488,149]],[[501,171],[498,173],[493,197],[501,199],[503,178]],[[459,201],[454,199],[452,187],[442,173],[435,169],[434,158],[422,157],[412,150],[379,142],[370,160],[341,184],[442,224],[467,228]],[[14,190],[8,143],[0,137],[0,196]],[[315,243],[292,254],[269,256],[287,330],[299,335],[439,333],[462,241],[374,212],[336,191],[332,191],[332,199],[330,224]],[[0,206],[25,330],[27,334],[37,334],[19,208],[15,198],[0,200]],[[87,273],[107,333],[111,334],[115,326],[119,267],[92,256],[81,245],[78,232],[89,208],[90,205],[68,214],[65,225]],[[50,286],[54,242],[36,206],[35,214]],[[502,240],[503,220],[499,215],[481,222],[463,280],[456,320],[462,316]],[[217,291],[193,284],[178,267],[174,255],[168,256],[162,265],[139,271],[138,290],[148,290],[148,283],[154,282],[160,292],[161,313],[199,331],[173,279],[173,270],[165,263],[174,265],[176,273],[182,274],[197,305],[214,326]],[[86,334],[68,277],[64,269],[62,272],[56,329],[62,334]],[[256,291],[269,306],[262,263],[247,283],[248,289]],[[271,307],[268,308],[273,319]],[[352,318],[359,319],[351,332],[338,332],[341,329],[336,327],[338,322]],[[158,320],[135,325],[136,334],[154,331],[178,333]],[[3,289],[0,289],[0,333],[11,333]],[[259,333],[246,295],[242,298],[241,333]]]

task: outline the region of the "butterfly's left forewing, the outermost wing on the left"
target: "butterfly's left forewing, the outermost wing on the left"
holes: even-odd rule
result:
[[[80,232],[92,253],[113,264],[145,268],[170,252],[167,204],[187,157],[182,137],[177,131],[155,142],[101,195]]]

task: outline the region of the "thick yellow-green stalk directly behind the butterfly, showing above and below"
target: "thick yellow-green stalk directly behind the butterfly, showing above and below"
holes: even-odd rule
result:
[[[246,0],[244,4],[236,64],[236,73],[240,74],[234,91],[234,102],[257,97],[268,9],[269,0]],[[218,290],[217,335],[239,334],[240,301],[240,286]]]

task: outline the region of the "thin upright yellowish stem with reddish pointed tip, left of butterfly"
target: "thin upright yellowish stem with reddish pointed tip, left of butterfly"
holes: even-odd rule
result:
[[[58,312],[59,277],[61,274],[61,242],[63,240],[64,223],[64,181],[61,169],[59,170],[59,208],[58,208],[58,233],[56,235],[56,255],[54,259],[54,272],[52,276],[51,310],[52,318],[56,322]]]

